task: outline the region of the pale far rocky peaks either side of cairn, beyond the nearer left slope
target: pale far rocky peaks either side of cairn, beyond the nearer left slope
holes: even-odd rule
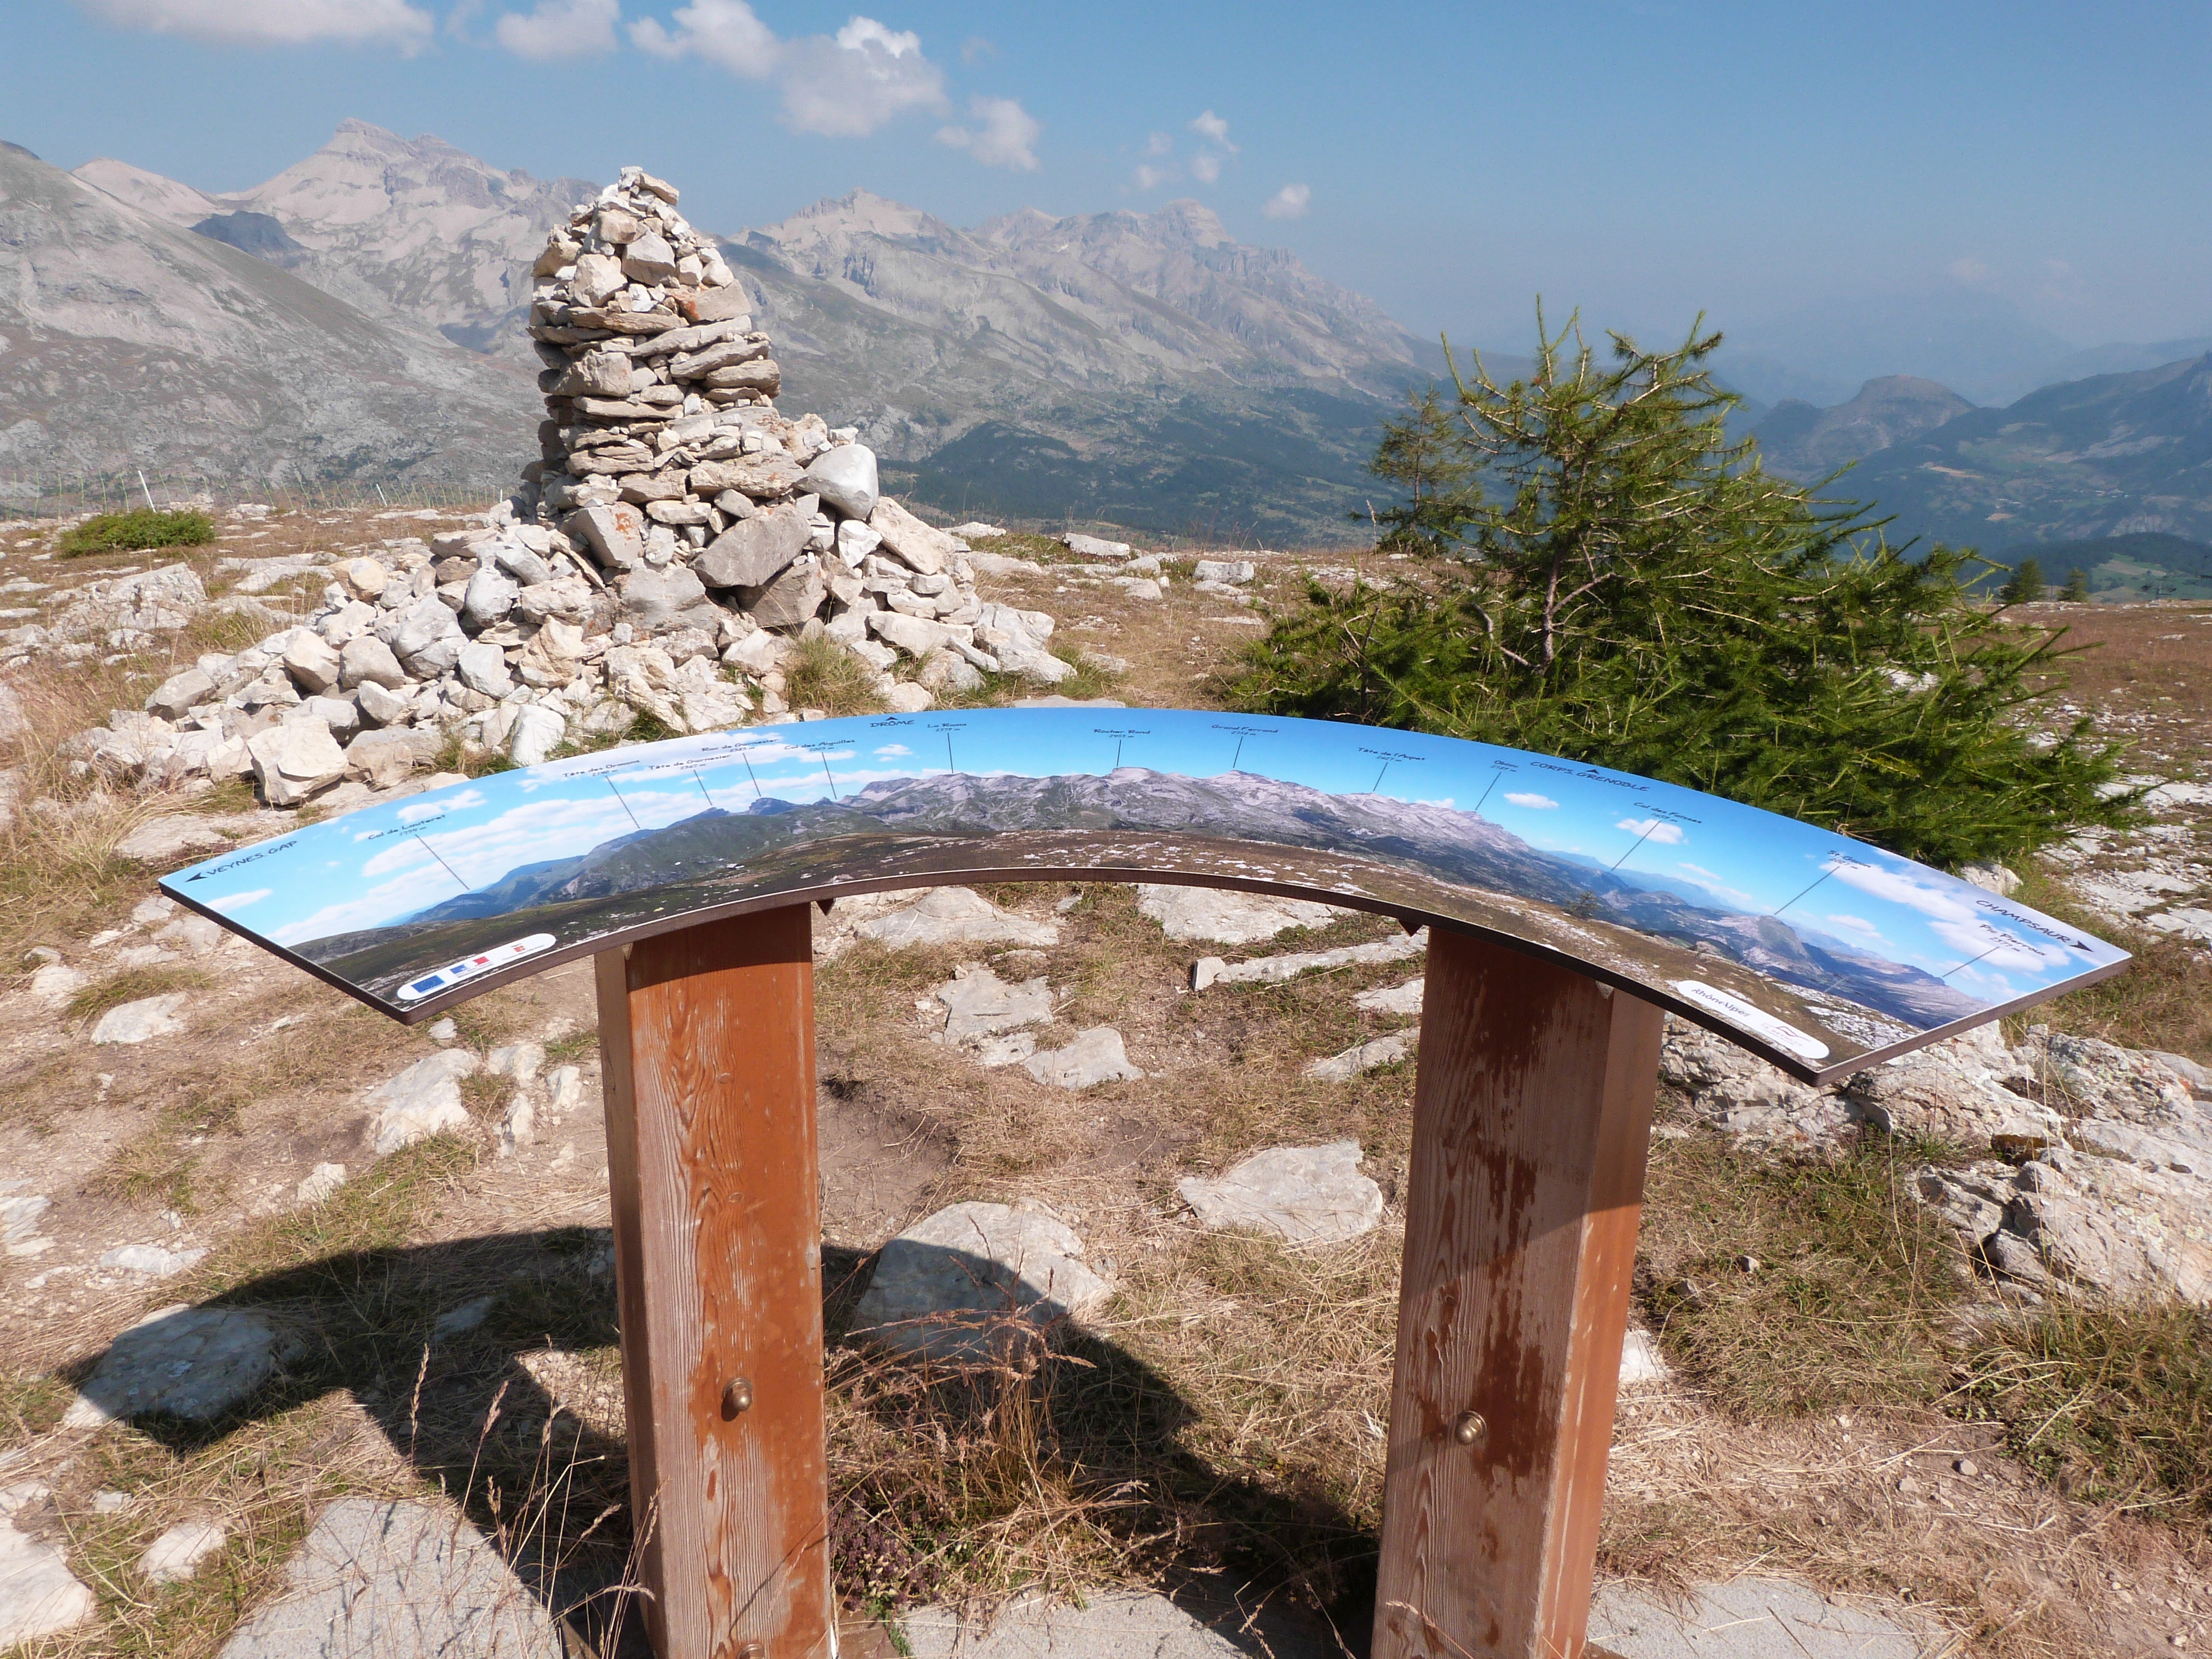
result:
[[[529,265],[595,192],[365,122],[232,195],[113,159],[77,177],[365,316],[518,365]],[[1374,301],[1237,243],[1194,201],[960,230],[856,190],[721,250],[792,394],[860,427],[891,487],[960,518],[1336,535],[1380,420],[1433,356]]]

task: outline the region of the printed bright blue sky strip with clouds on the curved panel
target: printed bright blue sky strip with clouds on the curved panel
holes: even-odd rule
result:
[[[2020,920],[2033,911],[1893,854],[1668,783],[1411,732],[1190,710],[874,717],[675,739],[369,807],[199,865],[208,885],[195,872],[168,885],[299,945],[389,925],[708,803],[821,801],[947,765],[1053,776],[1115,761],[1188,776],[1234,763],[1329,794],[1480,807],[1535,847],[1690,883],[1732,909],[1781,909],[1798,929],[1947,975],[1991,1004],[2119,956],[2064,949],[2053,940],[2077,940],[2073,929],[2039,931]]]

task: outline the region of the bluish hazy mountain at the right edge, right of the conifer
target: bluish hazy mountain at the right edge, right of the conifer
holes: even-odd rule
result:
[[[1874,453],[1843,491],[1969,546],[2212,540],[2212,354],[2044,387]]]

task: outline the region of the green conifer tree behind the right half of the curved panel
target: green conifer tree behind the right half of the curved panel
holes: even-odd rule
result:
[[[1467,467],[1442,551],[1310,586],[1232,701],[1597,761],[1940,865],[2124,823],[2097,796],[2117,750],[2088,721],[2037,734],[2057,637],[1971,604],[1973,553],[1905,557],[1730,442],[1719,343],[1615,334],[1604,363],[1540,312],[1526,380],[1453,358],[1422,438],[1449,429]]]

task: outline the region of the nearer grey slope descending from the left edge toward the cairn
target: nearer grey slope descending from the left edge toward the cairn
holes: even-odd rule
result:
[[[155,181],[161,184],[161,181]],[[179,186],[181,190],[181,186]],[[150,190],[168,210],[223,204]],[[504,480],[533,383],[0,144],[0,489],[58,473]]]

